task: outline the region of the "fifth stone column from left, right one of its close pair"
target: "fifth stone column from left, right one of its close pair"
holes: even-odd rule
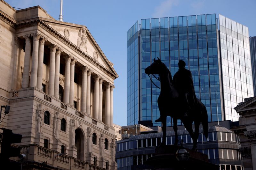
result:
[[[59,99],[59,85],[60,85],[60,53],[63,50],[58,48],[55,57],[55,75],[54,75],[54,97]]]

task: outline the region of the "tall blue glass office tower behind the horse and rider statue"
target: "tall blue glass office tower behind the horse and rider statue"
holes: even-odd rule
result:
[[[248,28],[215,14],[141,19],[127,33],[127,124],[160,116],[160,94],[144,69],[159,57],[172,76],[179,60],[192,72],[196,96],[207,108],[208,121],[238,121],[233,109],[253,96]],[[152,77],[154,83],[160,82]],[[179,113],[177,113],[179,114]],[[180,124],[181,122],[179,122]],[[167,126],[172,126],[167,117]]]

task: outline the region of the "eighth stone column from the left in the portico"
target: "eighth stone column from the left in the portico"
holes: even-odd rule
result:
[[[82,70],[82,89],[81,89],[81,112],[86,112],[86,87],[87,87],[87,71],[88,67],[84,66]]]

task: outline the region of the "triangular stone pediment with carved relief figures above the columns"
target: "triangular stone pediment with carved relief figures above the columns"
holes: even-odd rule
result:
[[[95,61],[117,75],[113,64],[108,61],[97,42],[92,37],[86,26],[60,22],[50,19],[42,19],[47,25],[63,35],[70,42],[75,44],[84,53],[91,56]]]

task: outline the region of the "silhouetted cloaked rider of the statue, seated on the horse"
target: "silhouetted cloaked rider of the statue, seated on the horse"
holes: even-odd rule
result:
[[[188,116],[188,112],[198,106],[198,103],[191,71],[185,69],[186,63],[183,60],[180,60],[178,65],[179,71],[173,76],[173,85],[177,89],[182,102],[180,108],[184,108],[182,112],[184,115],[182,116]],[[155,122],[162,122],[161,117]]]

